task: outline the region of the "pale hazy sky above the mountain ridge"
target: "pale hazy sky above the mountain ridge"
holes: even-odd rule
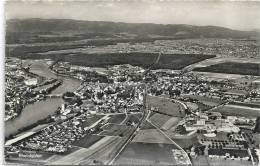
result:
[[[64,0],[65,1],[65,0]],[[216,25],[260,28],[260,2],[9,1],[6,18],[67,18],[91,21]]]

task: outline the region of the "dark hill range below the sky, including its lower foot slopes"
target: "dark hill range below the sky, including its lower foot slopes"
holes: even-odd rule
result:
[[[54,41],[63,41],[95,38],[96,36],[114,38],[115,36],[111,36],[111,34],[133,34],[141,38],[151,36],[249,38],[255,36],[255,33],[257,32],[238,31],[217,26],[79,21],[70,19],[12,19],[6,22],[7,43],[21,43],[21,39],[23,39],[24,43],[27,43],[30,41],[30,37],[35,37],[35,35],[43,39],[51,38]],[[46,42],[49,41],[46,40]]]

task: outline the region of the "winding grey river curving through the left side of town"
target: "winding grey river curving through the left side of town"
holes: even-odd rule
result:
[[[32,64],[30,72],[46,78],[62,79],[63,83],[52,94],[61,94],[66,91],[75,91],[80,86],[80,81],[70,77],[57,76],[43,60],[24,60],[24,64]],[[21,114],[5,123],[5,137],[16,134],[19,129],[29,126],[40,119],[52,115],[61,104],[64,103],[62,98],[47,98],[33,104],[25,106]]]

